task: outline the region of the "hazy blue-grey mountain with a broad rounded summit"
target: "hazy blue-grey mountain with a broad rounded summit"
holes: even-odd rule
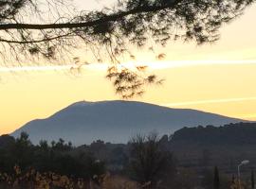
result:
[[[33,143],[63,138],[74,145],[90,144],[101,139],[111,143],[126,143],[137,133],[156,130],[171,134],[183,127],[220,126],[243,120],[209,112],[171,109],[135,101],[77,102],[46,119],[33,120],[11,135],[22,131]]]

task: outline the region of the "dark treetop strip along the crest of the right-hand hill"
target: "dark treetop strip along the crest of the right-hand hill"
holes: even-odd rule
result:
[[[172,143],[180,141],[202,145],[256,145],[256,123],[179,129],[174,132]]]

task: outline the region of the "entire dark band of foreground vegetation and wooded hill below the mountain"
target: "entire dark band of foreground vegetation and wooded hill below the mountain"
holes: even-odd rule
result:
[[[27,133],[0,137],[0,188],[254,188],[255,124],[137,135],[128,144],[60,139],[33,145]],[[237,165],[241,166],[241,181]]]

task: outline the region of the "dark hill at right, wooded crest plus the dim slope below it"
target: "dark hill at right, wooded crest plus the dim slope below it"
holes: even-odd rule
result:
[[[256,123],[179,129],[168,146],[184,166],[219,165],[234,173],[243,160],[256,166]]]

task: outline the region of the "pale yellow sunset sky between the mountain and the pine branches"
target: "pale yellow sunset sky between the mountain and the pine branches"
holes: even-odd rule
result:
[[[80,8],[88,4],[78,1]],[[87,2],[87,1],[86,1]],[[90,9],[104,1],[92,1]],[[109,1],[108,1],[109,2]],[[171,108],[195,109],[256,120],[256,6],[221,29],[214,44],[170,42],[155,53],[134,49],[137,62],[165,79],[133,100]],[[157,53],[166,59],[155,60]],[[46,118],[77,101],[120,99],[105,79],[105,69],[90,65],[80,74],[69,66],[0,67],[0,134]]]

